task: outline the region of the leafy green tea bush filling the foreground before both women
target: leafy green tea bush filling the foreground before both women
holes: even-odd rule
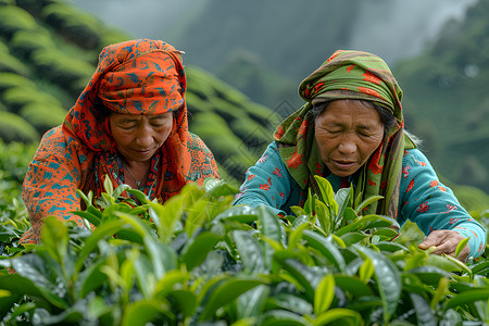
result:
[[[0,260],[2,322],[487,323],[487,261],[467,265],[392,241],[396,221],[358,215],[377,198],[355,202],[349,189],[317,181],[324,200],[310,196],[285,218],[230,206],[237,190],[215,179],[164,204],[110,183],[101,198],[82,193],[86,227],[49,217],[42,244]]]

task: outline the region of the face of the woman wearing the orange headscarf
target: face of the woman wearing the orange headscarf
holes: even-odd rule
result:
[[[173,127],[172,112],[149,115],[112,113],[109,120],[117,150],[128,161],[150,160]]]

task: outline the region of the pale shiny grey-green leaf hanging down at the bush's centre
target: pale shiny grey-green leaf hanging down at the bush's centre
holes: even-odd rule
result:
[[[262,248],[249,231],[233,231],[236,248],[244,266],[244,271],[253,273],[263,273],[265,271],[265,261],[263,259]]]

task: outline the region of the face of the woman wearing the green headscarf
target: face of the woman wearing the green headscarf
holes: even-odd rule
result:
[[[336,100],[315,121],[321,158],[340,177],[354,174],[384,138],[384,124],[373,104],[359,100]]]

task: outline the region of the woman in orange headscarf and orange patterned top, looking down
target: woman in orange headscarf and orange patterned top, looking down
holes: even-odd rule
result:
[[[82,220],[77,189],[100,196],[105,176],[160,202],[189,181],[218,177],[203,141],[188,131],[181,52],[161,40],[109,46],[64,123],[41,140],[24,181],[32,228],[21,242],[39,242],[42,220]]]

